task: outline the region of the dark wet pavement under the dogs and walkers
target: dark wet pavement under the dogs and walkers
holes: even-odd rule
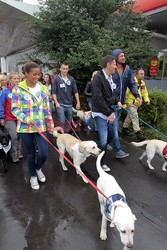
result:
[[[91,133],[81,139],[95,139]],[[53,141],[55,141],[53,139]],[[136,215],[134,250],[167,249],[167,173],[163,160],[155,157],[148,169],[140,163],[143,149],[122,141],[128,158],[115,159],[108,151],[111,174],[124,190]],[[82,164],[84,173],[94,182],[98,178],[95,158]],[[99,238],[101,215],[96,191],[76,175],[68,163],[63,172],[58,154],[49,146],[44,173],[47,182],[39,191],[30,188],[26,161],[9,164],[8,173],[0,173],[0,250],[122,250],[116,229],[108,224],[108,239]]]

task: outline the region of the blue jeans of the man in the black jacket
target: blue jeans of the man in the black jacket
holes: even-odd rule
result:
[[[111,141],[113,142],[114,150],[116,152],[122,150],[120,141],[119,141],[119,135],[118,135],[118,119],[115,117],[115,120],[113,123],[107,122],[107,120],[96,116],[95,117],[97,131],[98,131],[98,146],[101,150],[106,151],[107,144],[109,144]],[[105,154],[102,158],[102,164],[104,164],[105,161]]]

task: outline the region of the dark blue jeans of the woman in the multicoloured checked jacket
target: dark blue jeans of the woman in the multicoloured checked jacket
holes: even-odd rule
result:
[[[43,133],[46,136],[46,132]],[[36,176],[48,156],[48,143],[38,133],[19,133],[27,151],[27,161],[30,176]],[[38,154],[36,154],[38,149]]]

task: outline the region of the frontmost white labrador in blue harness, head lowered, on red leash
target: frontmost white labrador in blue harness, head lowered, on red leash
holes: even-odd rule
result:
[[[107,174],[101,168],[102,152],[96,162],[97,171],[100,177],[97,180],[97,187],[105,194],[106,199],[98,192],[100,210],[102,214],[100,238],[107,239],[107,220],[111,222],[110,227],[116,226],[120,233],[124,250],[133,247],[134,224],[136,217],[132,214],[126,203],[125,194],[112,175]]]

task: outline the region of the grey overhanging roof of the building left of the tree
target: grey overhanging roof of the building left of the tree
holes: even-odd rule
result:
[[[19,52],[32,45],[28,38],[26,17],[39,11],[32,4],[0,0],[0,57]]]

